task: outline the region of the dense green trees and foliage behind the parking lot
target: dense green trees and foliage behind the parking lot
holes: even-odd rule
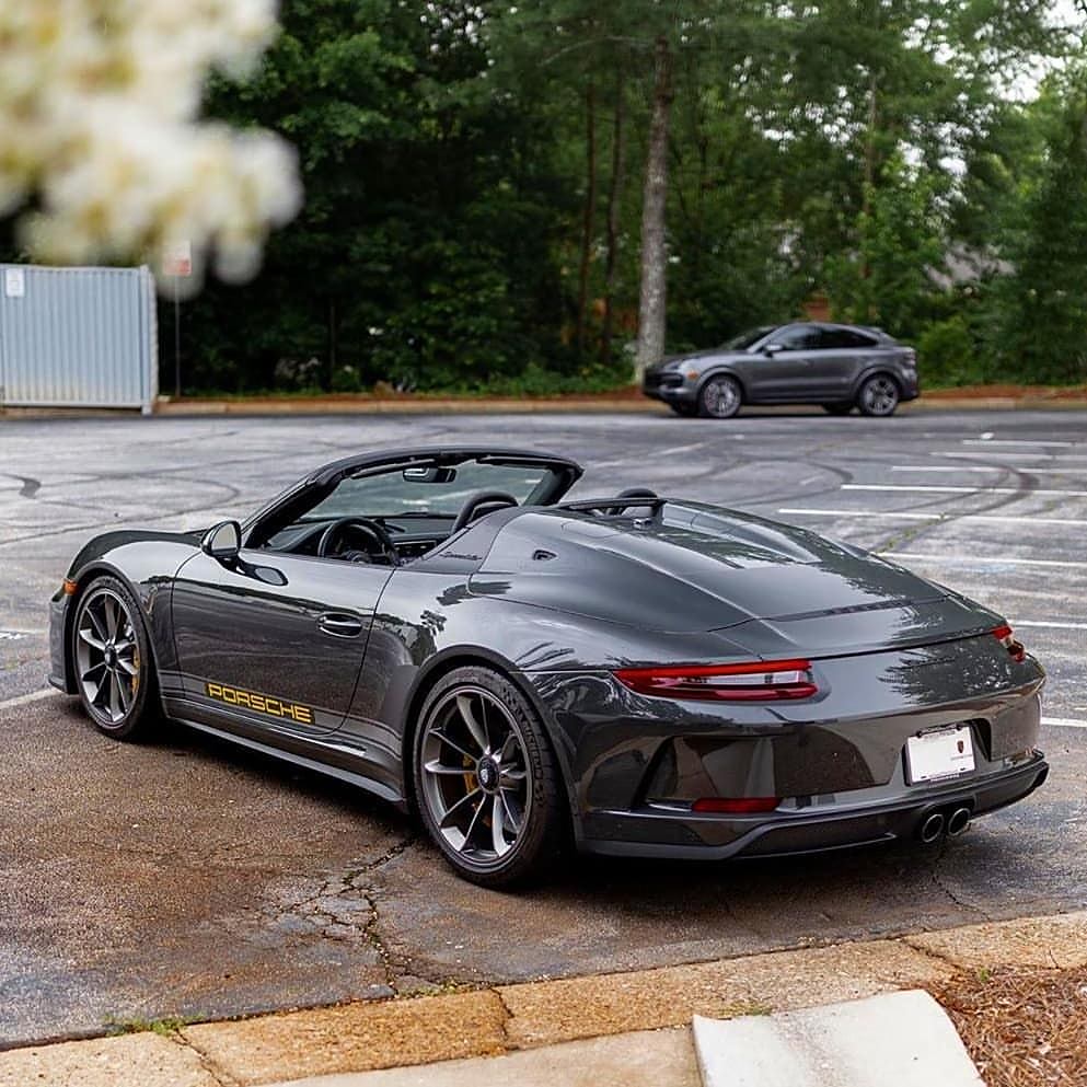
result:
[[[605,388],[639,305],[684,348],[818,299],[940,381],[1087,380],[1087,79],[1059,14],[285,0],[208,108],[294,143],[305,204],[256,279],[184,307],[186,388]]]

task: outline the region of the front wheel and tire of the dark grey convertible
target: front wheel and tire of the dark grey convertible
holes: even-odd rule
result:
[[[79,699],[95,728],[115,740],[148,737],[162,719],[154,658],[128,586],[95,578],[76,606],[71,659]]]

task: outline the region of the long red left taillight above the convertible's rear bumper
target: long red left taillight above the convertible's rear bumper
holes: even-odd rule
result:
[[[809,698],[819,687],[807,660],[760,660],[743,664],[621,668],[615,679],[638,694],[664,698],[773,702]]]

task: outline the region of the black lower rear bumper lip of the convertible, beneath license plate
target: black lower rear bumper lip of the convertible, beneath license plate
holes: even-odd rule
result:
[[[581,848],[615,856],[725,860],[818,853],[913,837],[935,811],[968,808],[971,818],[1024,799],[1045,780],[1040,752],[1024,765],[953,786],[856,805],[813,805],[768,816],[694,816],[654,808],[597,811],[583,824]]]

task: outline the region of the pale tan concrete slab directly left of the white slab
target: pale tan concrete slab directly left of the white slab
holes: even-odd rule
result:
[[[566,1042],[423,1068],[296,1079],[275,1087],[701,1087],[691,1029]]]

